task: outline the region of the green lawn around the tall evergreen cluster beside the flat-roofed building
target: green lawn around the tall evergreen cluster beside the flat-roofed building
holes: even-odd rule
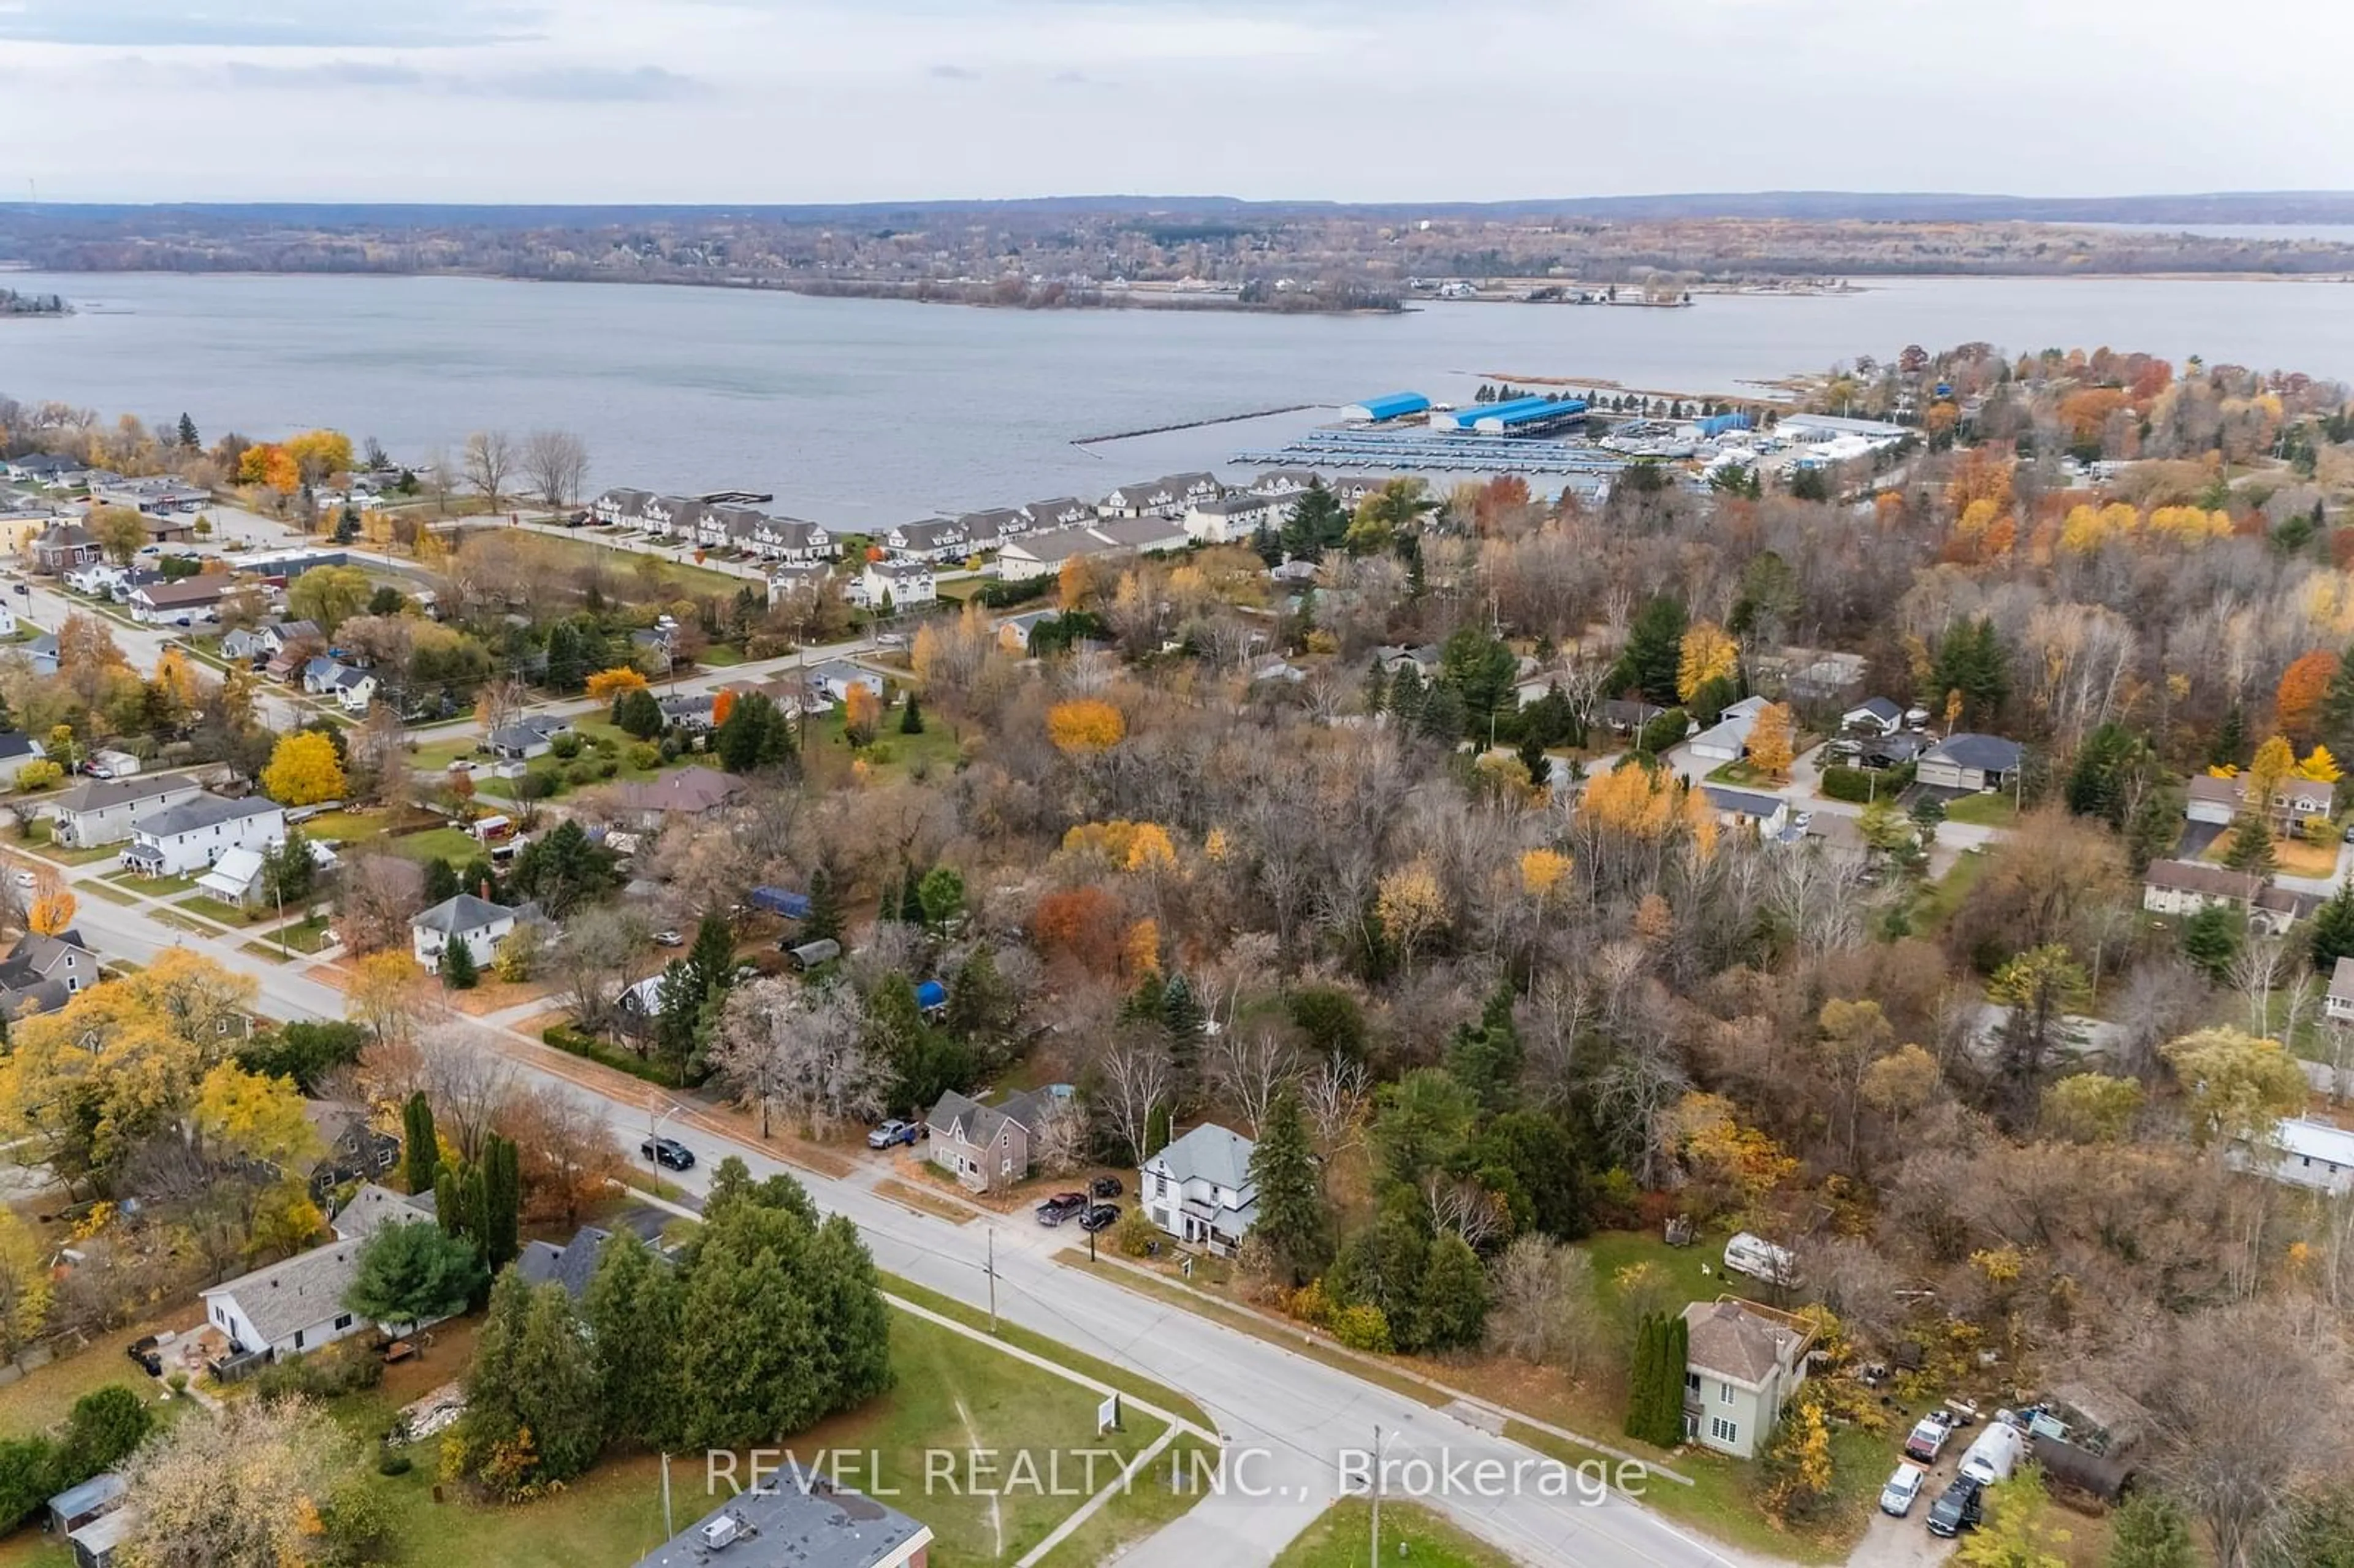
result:
[[[1040,1476],[1059,1455],[1062,1483],[1078,1490],[1085,1450],[1125,1460],[1161,1431],[1158,1422],[1132,1415],[1128,1431],[1097,1439],[1097,1401],[1088,1389],[904,1314],[892,1316],[892,1368],[897,1387],[890,1394],[793,1436],[786,1448],[803,1457],[855,1453],[857,1464],[840,1471],[845,1483],[899,1488],[890,1502],[932,1526],[937,1568],[1012,1563],[1083,1502],[1024,1488],[1012,1471],[1017,1450],[1033,1455]],[[334,1413],[370,1441],[391,1420],[388,1401],[374,1394],[339,1401]],[[953,1495],[944,1483],[925,1488],[927,1448],[996,1450],[998,1471],[960,1469]],[[876,1455],[873,1474],[864,1474],[869,1453]],[[431,1453],[417,1460],[407,1476],[370,1471],[393,1516],[393,1563],[577,1568],[629,1563],[661,1542],[661,1471],[650,1455],[607,1460],[563,1493],[523,1507],[435,1504]],[[1111,1457],[1097,1460],[1097,1486],[1116,1474]],[[680,1528],[727,1495],[725,1479],[718,1495],[706,1490],[704,1467],[692,1457],[673,1460],[671,1490]],[[986,1490],[998,1495],[977,1495]]]

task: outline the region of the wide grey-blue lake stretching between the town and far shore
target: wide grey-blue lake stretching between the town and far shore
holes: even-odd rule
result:
[[[1904,344],[2112,346],[2354,381],[2354,285],[1923,278],[1690,311],[1450,304],[1391,318],[979,311],[473,278],[0,275],[66,320],[0,320],[0,391],[205,438],[313,424],[421,461],[478,426],[588,440],[596,485],[770,490],[876,525],[1224,469],[1330,414],[1073,438],[1481,377],[1735,393]]]

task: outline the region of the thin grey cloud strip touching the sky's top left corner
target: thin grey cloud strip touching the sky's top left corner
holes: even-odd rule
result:
[[[245,45],[400,49],[537,38],[544,12],[452,0],[16,0],[0,5],[0,42],[179,47]]]

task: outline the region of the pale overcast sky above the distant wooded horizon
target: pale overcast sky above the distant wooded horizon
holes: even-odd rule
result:
[[[0,0],[0,200],[2354,186],[2345,0]]]

